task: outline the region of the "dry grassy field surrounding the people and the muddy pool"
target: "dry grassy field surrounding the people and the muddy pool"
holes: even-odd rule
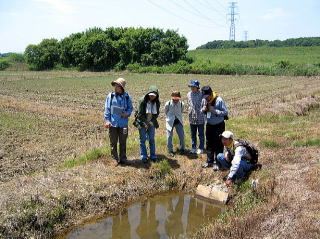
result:
[[[110,162],[105,96],[127,80],[134,106],[150,85],[160,90],[160,160],[139,160],[129,126],[127,166]],[[0,237],[47,238],[150,194],[193,191],[221,180],[199,158],[166,154],[163,106],[172,90],[211,85],[229,108],[227,128],[260,149],[256,189],[234,187],[230,210],[196,238],[316,238],[320,206],[320,78],[91,72],[0,72]],[[190,148],[185,114],[186,144]],[[174,138],[177,143],[177,138]],[[164,162],[171,169],[163,172]],[[250,179],[248,180],[248,182]],[[298,229],[297,229],[298,228]],[[218,233],[217,233],[218,232]]]

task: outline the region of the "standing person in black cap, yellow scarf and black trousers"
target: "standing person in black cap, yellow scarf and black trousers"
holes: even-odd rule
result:
[[[228,109],[223,99],[212,91],[210,86],[201,88],[203,95],[202,112],[205,113],[206,124],[206,151],[207,163],[203,168],[213,167],[218,170],[216,157],[223,152],[223,144],[220,135],[225,131],[224,120],[228,117]]]

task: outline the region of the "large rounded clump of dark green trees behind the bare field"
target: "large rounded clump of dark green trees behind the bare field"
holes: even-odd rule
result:
[[[129,64],[162,66],[186,59],[187,39],[158,28],[90,28],[58,41],[28,45],[24,55],[34,70],[56,66],[79,70],[124,70]]]

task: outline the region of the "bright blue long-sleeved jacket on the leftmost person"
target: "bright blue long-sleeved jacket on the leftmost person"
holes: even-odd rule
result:
[[[132,110],[132,100],[126,92],[121,95],[112,92],[107,95],[105,101],[104,119],[106,122],[110,122],[112,127],[125,128],[128,127],[129,116]],[[121,113],[126,113],[129,116],[122,117]]]

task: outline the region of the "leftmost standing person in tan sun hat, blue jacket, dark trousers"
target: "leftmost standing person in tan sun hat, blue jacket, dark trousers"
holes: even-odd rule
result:
[[[114,92],[107,95],[105,102],[105,126],[109,128],[111,156],[115,164],[124,164],[127,161],[127,137],[128,137],[128,119],[132,113],[132,100],[125,92],[126,81],[118,78],[112,81]],[[118,155],[118,142],[120,152]]]

